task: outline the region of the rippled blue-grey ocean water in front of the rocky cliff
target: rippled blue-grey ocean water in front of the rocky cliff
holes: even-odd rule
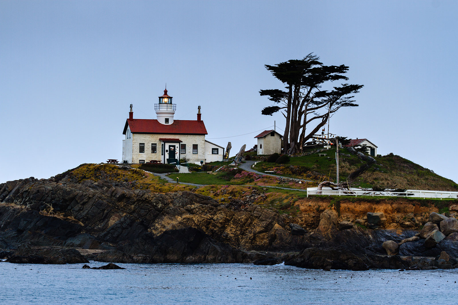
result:
[[[126,269],[93,270],[82,265],[2,262],[0,304],[458,303],[458,269],[322,271],[285,265],[119,263]]]

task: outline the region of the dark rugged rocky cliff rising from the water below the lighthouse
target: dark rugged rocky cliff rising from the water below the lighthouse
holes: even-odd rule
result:
[[[335,207],[329,210],[316,199],[297,203],[299,213],[292,217],[256,202],[222,202],[190,191],[157,193],[129,179],[100,178],[106,179],[81,179],[69,172],[53,179],[31,177],[0,184],[0,258],[83,262],[85,258],[71,257],[73,252],[67,251],[77,249],[88,259],[105,262],[284,260],[308,268],[353,270],[407,268],[411,263],[386,257],[382,244],[401,242],[417,231],[387,230],[386,223],[377,230],[366,229],[364,222],[354,224],[358,213],[345,210],[339,218]],[[421,213],[426,210],[420,208]],[[367,219],[362,221],[367,224]],[[406,242],[399,254],[437,256],[446,251],[458,256],[453,234],[433,248],[424,247],[424,242]]]

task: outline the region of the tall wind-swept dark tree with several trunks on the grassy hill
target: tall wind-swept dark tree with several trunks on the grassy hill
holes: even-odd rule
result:
[[[286,90],[259,91],[273,102],[261,113],[272,116],[281,111],[286,119],[283,137],[286,153],[301,152],[304,143],[340,108],[358,106],[352,98],[362,85],[330,85],[333,81],[348,80],[344,74],[349,67],[325,66],[319,59],[310,53],[303,59],[292,59],[274,66],[265,65],[276,79],[286,85]]]

